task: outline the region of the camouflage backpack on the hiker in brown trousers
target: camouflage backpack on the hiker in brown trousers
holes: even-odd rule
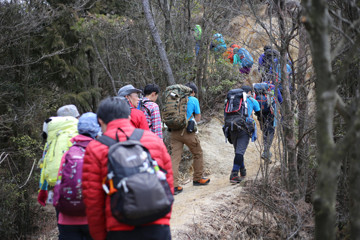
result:
[[[190,87],[175,84],[168,86],[165,90],[166,102],[163,109],[163,121],[168,128],[179,130],[187,127],[186,110],[189,97],[192,93]]]

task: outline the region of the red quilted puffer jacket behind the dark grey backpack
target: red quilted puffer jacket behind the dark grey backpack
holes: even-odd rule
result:
[[[128,119],[116,119],[107,124],[104,135],[116,139],[115,134],[117,132],[119,141],[125,141],[126,137],[121,131],[117,131],[118,127],[129,137],[135,129]],[[172,193],[174,193],[171,158],[163,141],[154,133],[145,131],[140,142],[149,150],[151,157],[157,161],[159,166],[168,172],[166,175],[167,181]],[[105,239],[107,231],[129,231],[135,228],[134,226],[122,224],[113,217],[110,210],[110,196],[107,196],[102,189],[102,179],[108,173],[108,151],[109,147],[106,145],[98,141],[92,141],[87,145],[84,157],[82,174],[83,198],[89,230],[95,240]],[[170,215],[171,212],[151,224],[170,225]]]

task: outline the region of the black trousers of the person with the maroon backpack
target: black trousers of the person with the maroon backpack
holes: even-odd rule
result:
[[[88,225],[58,224],[59,240],[93,240]]]

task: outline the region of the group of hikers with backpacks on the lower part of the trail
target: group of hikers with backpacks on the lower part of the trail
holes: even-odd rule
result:
[[[261,58],[265,64],[266,55]],[[250,138],[257,138],[253,112],[263,132],[261,157],[272,163],[275,116],[282,102],[280,88],[274,94],[272,66],[264,68],[261,83],[227,94],[223,131],[235,151],[231,183],[246,177],[244,154]],[[193,154],[193,186],[209,184],[197,136],[196,85],[168,86],[161,114],[155,103],[160,90],[156,84],[143,90],[126,85],[117,97],[102,100],[96,114],[80,116],[75,105],[65,105],[57,117],[45,120],[38,201],[56,208],[59,239],[171,239],[173,195],[183,192],[178,171],[184,144]],[[171,157],[162,124],[170,132]]]

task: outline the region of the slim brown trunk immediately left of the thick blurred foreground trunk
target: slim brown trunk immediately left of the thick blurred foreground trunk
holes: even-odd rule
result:
[[[297,154],[297,170],[299,175],[299,196],[302,200],[305,198],[308,184],[308,161],[309,161],[309,114],[308,114],[308,95],[309,89],[306,86],[306,70],[307,70],[307,39],[306,30],[303,24],[299,26],[299,54],[297,67],[297,85],[298,85],[298,154]]]

